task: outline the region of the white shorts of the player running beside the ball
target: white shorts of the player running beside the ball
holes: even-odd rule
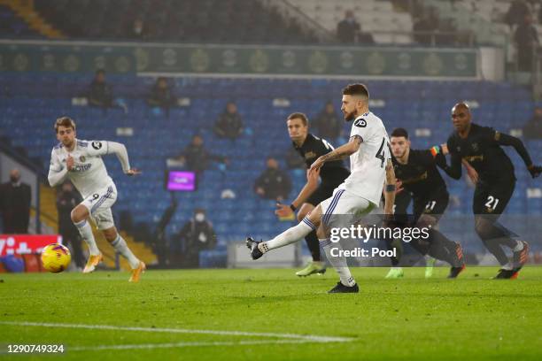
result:
[[[97,192],[83,199],[82,205],[87,207],[90,218],[94,219],[100,230],[114,227],[111,207],[117,200],[117,188],[114,183],[100,188]]]

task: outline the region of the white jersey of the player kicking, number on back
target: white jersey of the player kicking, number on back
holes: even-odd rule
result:
[[[362,139],[360,149],[350,156],[350,176],[338,188],[378,205],[386,179],[385,166],[391,159],[388,133],[382,120],[368,111],[353,121],[350,136],[354,135]]]

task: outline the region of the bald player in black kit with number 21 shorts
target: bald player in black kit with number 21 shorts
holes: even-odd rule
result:
[[[476,234],[501,265],[495,278],[515,279],[528,260],[529,243],[515,240],[513,233],[498,222],[515,188],[514,165],[501,146],[514,147],[523,158],[532,178],[540,175],[542,167],[532,164],[529,152],[521,140],[501,134],[491,127],[478,126],[472,123],[471,119],[467,104],[458,103],[453,106],[452,120],[455,131],[446,144],[452,159],[451,165],[446,165],[443,169],[453,179],[459,180],[461,159],[464,159],[478,173],[472,204]],[[513,251],[512,261],[508,259],[501,246]]]

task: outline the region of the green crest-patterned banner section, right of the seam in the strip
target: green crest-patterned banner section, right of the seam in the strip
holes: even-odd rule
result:
[[[477,51],[410,48],[196,46],[136,50],[139,72],[476,78]]]

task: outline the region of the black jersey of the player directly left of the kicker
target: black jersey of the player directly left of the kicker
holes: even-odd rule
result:
[[[293,143],[293,146],[298,150],[301,157],[305,159],[307,168],[310,168],[318,157],[328,154],[333,150],[333,146],[329,144],[329,142],[310,133],[306,135],[305,142],[303,142],[301,147],[298,147],[295,142]],[[340,184],[349,175],[350,171],[346,169],[342,160],[326,162],[322,165],[320,171],[322,183]]]

